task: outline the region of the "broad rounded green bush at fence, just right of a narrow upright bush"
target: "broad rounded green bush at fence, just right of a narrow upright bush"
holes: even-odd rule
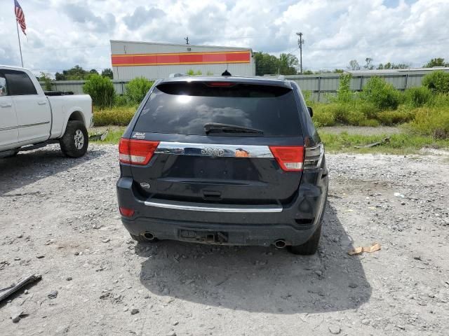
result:
[[[372,77],[363,87],[361,98],[375,105],[378,109],[397,109],[401,102],[401,94],[393,85],[380,77]]]

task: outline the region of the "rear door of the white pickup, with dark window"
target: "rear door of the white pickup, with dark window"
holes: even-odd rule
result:
[[[23,71],[4,70],[4,75],[17,114],[19,144],[46,141],[51,130],[51,108],[46,95],[38,94]]]

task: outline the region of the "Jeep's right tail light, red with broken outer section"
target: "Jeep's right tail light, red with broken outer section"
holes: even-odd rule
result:
[[[284,172],[300,172],[303,169],[314,169],[321,166],[324,146],[269,146],[274,158]]]

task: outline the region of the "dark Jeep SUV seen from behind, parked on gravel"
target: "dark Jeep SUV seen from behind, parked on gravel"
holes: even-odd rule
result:
[[[296,83],[157,80],[119,153],[119,210],[135,240],[316,252],[328,171]]]

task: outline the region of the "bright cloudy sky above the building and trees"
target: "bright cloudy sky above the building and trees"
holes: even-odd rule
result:
[[[109,40],[248,47],[299,58],[303,66],[345,69],[449,59],[449,0],[18,0],[24,66],[55,73],[78,64],[111,67]],[[20,65],[14,1],[0,0],[0,64]]]

